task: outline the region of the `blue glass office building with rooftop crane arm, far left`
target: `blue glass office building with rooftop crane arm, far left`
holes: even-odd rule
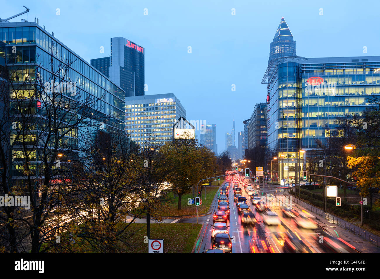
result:
[[[51,73],[52,69],[49,66],[49,61],[55,56],[58,58],[58,60],[55,60],[55,65],[58,65],[59,61],[63,61],[68,65],[68,72],[60,76],[64,79],[62,81],[68,83],[70,81],[78,82],[82,99],[90,95],[99,98],[92,110],[94,117],[96,115],[97,119],[104,119],[105,126],[102,128],[108,126],[112,129],[119,129],[123,133],[125,132],[125,91],[52,34],[46,32],[43,27],[36,22],[2,22],[0,23],[0,40],[3,42],[3,46],[0,47],[0,56],[5,58],[6,66],[11,72],[10,80],[13,86],[17,87],[17,84],[22,84],[25,80],[30,84],[37,84],[35,82],[37,78],[49,82],[52,76],[57,75],[57,73]],[[67,62],[72,62],[72,64],[69,65],[70,63]],[[30,88],[25,88],[25,85],[20,86],[22,86],[24,96],[33,94],[34,91],[30,90]],[[13,108],[13,91],[10,88],[9,94],[11,95],[11,113],[17,112],[17,106]],[[15,104],[17,105],[17,102]],[[32,111],[41,111],[43,117],[41,102],[36,101]],[[81,140],[78,135],[79,133],[76,130],[76,132],[66,136],[65,140],[68,145],[72,147],[80,145]],[[32,138],[33,135],[30,135],[30,137]],[[17,148],[15,147],[15,149]],[[13,151],[14,154],[17,152],[17,150]],[[38,164],[40,159],[37,155],[38,152],[33,154],[31,157]]]

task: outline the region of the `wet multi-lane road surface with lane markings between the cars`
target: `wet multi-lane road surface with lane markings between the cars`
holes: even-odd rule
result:
[[[303,252],[309,253],[326,253],[326,252],[337,252],[339,249],[332,250],[330,247],[340,246],[343,248],[341,251],[347,252],[358,252],[350,244],[344,242],[338,242],[336,244],[336,236],[331,235],[330,233],[323,230],[318,226],[317,229],[302,229],[298,227],[294,218],[286,217],[282,210],[287,206],[291,206],[291,200],[289,196],[285,196],[282,193],[276,193],[275,190],[268,189],[256,189],[256,193],[259,194],[259,197],[262,199],[270,199],[271,203],[269,209],[278,214],[278,217],[281,220],[281,225],[266,225],[263,222],[263,215],[255,210],[255,206],[251,203],[250,198],[247,193],[245,193],[244,187],[239,182],[239,187],[242,189],[242,195],[247,198],[247,204],[250,207],[250,210],[255,214],[257,220],[255,225],[245,226],[241,223],[240,215],[237,211],[236,202],[233,200],[233,182],[230,181],[229,188],[229,201],[230,201],[230,220],[228,225],[230,226],[229,234],[232,239],[232,252],[233,253],[249,253],[250,252],[250,240],[255,237],[264,237],[266,236],[270,245],[271,251],[275,253],[285,252],[284,242],[287,235],[287,231],[293,233],[299,239],[302,240]],[[217,210],[218,201],[215,198],[212,203],[213,213]],[[302,214],[304,210],[291,206],[292,209],[298,213]],[[303,212],[302,212],[303,211]],[[204,223],[203,229],[200,233],[199,240],[197,243],[197,249],[195,252],[201,253],[205,252],[206,249],[211,249],[211,230],[213,225],[213,215],[202,216],[200,221]],[[311,214],[311,213],[306,213]],[[316,216],[311,216],[311,219],[314,219],[318,222]],[[335,240],[334,240],[335,239]],[[351,247],[350,247],[351,246]]]

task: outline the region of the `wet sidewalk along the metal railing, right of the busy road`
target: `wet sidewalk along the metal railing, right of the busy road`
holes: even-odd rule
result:
[[[362,253],[380,253],[380,247],[378,247],[380,246],[380,236],[363,230],[335,215],[324,213],[323,210],[303,202],[293,195],[290,196],[292,197],[293,206],[314,213],[320,227],[329,232],[332,236],[336,237],[338,234],[340,238],[351,243]]]

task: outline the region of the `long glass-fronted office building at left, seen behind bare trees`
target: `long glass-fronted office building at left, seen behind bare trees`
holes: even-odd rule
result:
[[[19,117],[19,99],[14,92],[22,91],[23,96],[28,96],[26,99],[36,99],[32,102],[30,112],[35,115],[36,123],[40,123],[46,114],[46,108],[43,106],[44,102],[49,103],[48,87],[42,88],[41,84],[46,84],[51,81],[52,77],[57,77],[57,73],[52,73],[50,61],[52,57],[56,62],[56,66],[65,64],[67,65],[67,72],[59,75],[59,79],[66,84],[71,84],[73,87],[78,87],[78,94],[67,93],[62,90],[62,85],[59,88],[54,84],[54,92],[57,92],[62,99],[71,98],[72,101],[81,103],[84,97],[92,96],[99,98],[97,103],[93,104],[90,109],[94,115],[93,121],[104,121],[99,129],[108,131],[108,129],[117,130],[125,133],[125,91],[114,84],[111,80],[101,74],[97,69],[93,68],[83,58],[76,54],[73,50],[65,46],[61,41],[55,38],[52,34],[38,25],[36,22],[1,22],[0,23],[0,60],[6,62],[11,72],[9,83],[12,83],[12,88],[9,88],[11,106],[11,117],[17,119]],[[14,52],[16,50],[16,52]],[[69,63],[67,63],[69,61]],[[56,70],[54,70],[56,71]],[[74,85],[75,84],[75,85]],[[46,85],[44,85],[46,86]],[[35,90],[30,90],[30,87],[35,88],[38,92],[45,92],[45,94],[37,94]],[[52,87],[53,88],[53,85]],[[55,91],[58,88],[58,91]],[[80,94],[79,94],[80,90]],[[18,93],[19,94],[19,93]],[[36,95],[37,94],[37,95]],[[42,96],[41,98],[39,96]],[[103,95],[103,98],[101,98]],[[79,97],[78,97],[79,96]],[[77,99],[81,98],[81,99]],[[29,101],[25,101],[27,103]],[[29,105],[29,104],[28,104]],[[68,113],[72,113],[71,111]],[[78,115],[80,112],[74,112]],[[3,116],[4,117],[4,116]],[[34,116],[33,116],[34,117]],[[95,119],[96,118],[96,119]],[[62,121],[61,119],[57,119]],[[63,125],[64,126],[64,125]],[[38,127],[38,126],[37,126]],[[64,128],[62,128],[64,129]],[[82,144],[80,133],[81,128],[70,130],[70,134],[66,134],[62,139],[65,145],[70,147],[71,150],[78,150]],[[96,128],[92,128],[94,134],[97,133]],[[26,138],[30,139],[29,144],[35,144],[36,138],[39,138],[43,131],[36,129],[36,131],[27,131]],[[11,132],[11,142],[13,142],[16,135]],[[19,144],[19,143],[17,143]],[[22,178],[22,165],[25,161],[25,154],[22,145],[15,144],[13,146],[13,167],[12,174],[16,179]],[[41,178],[42,170],[39,167],[43,158],[39,152],[38,145],[33,147],[33,150],[28,155],[32,158],[31,169],[35,169],[36,177]],[[64,153],[64,152],[62,152]],[[66,156],[66,154],[63,154]],[[20,164],[18,163],[20,162]],[[63,166],[64,167],[64,166]],[[41,173],[39,173],[41,172]]]

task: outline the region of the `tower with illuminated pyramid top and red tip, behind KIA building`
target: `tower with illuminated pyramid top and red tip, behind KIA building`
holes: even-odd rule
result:
[[[272,59],[285,56],[296,56],[296,41],[293,40],[293,35],[282,18],[271,43],[268,65]]]

